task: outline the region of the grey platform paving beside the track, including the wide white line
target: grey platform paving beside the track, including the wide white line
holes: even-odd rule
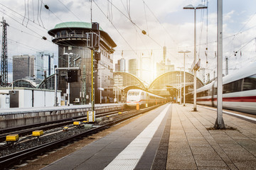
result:
[[[160,106],[44,169],[151,169],[166,122],[171,116],[170,106]],[[168,141],[166,138],[167,146]]]

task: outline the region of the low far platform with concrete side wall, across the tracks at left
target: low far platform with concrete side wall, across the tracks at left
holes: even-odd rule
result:
[[[125,103],[105,103],[95,104],[96,113],[122,111],[126,107]],[[52,106],[33,108],[4,108],[0,109],[0,129],[14,128],[23,125],[35,125],[55,120],[63,120],[87,115],[92,106]]]

